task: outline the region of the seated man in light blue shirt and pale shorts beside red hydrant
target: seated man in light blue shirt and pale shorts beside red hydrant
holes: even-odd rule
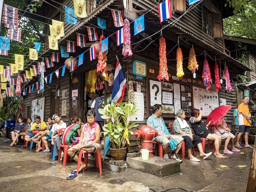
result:
[[[150,116],[147,120],[147,125],[151,126],[153,129],[156,129],[158,132],[158,135],[154,138],[154,140],[158,143],[161,143],[163,145],[163,152],[164,152],[164,158],[169,158],[167,154],[168,146],[170,145],[169,139],[175,139],[178,142],[176,153],[178,153],[181,149],[183,138],[175,135],[167,135],[165,133],[165,125],[164,120],[160,116],[162,115],[162,105],[155,104],[153,107],[153,114]],[[179,162],[182,162],[179,158],[176,158],[175,154],[171,156],[172,159],[177,160]]]

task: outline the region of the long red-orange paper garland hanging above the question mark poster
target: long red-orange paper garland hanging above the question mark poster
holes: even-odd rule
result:
[[[157,78],[159,81],[164,80],[164,78],[169,81],[164,37],[159,38],[159,75]]]

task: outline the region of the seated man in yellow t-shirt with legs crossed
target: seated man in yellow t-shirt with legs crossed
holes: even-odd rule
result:
[[[31,125],[31,128],[30,128],[30,132],[28,135],[24,136],[24,139],[26,141],[30,141],[30,138],[34,137],[37,133],[35,131],[38,131],[42,133],[44,133],[44,131],[46,130],[46,123],[44,121],[41,122],[41,117],[40,116],[36,116],[36,122],[33,123]],[[37,141],[37,149],[36,149],[36,152],[39,152],[42,150],[42,147],[41,147],[41,140],[40,141]]]

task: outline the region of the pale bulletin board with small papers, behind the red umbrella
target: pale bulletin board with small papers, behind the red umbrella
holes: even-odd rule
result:
[[[201,109],[202,116],[208,116],[219,106],[219,93],[193,86],[193,107]]]

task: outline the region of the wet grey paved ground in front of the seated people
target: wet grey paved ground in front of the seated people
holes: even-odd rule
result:
[[[57,160],[52,161],[50,153],[35,152],[35,148],[23,149],[22,145],[10,147],[9,144],[10,140],[0,138],[0,191],[3,192],[243,192],[246,190],[253,152],[252,149],[243,148],[243,154],[234,152],[228,155],[228,159],[217,159],[211,155],[200,162],[190,161],[186,155],[181,163],[181,173],[165,178],[133,169],[122,173],[103,170],[100,174],[94,165],[88,165],[87,171],[67,180],[69,173],[76,169],[75,161],[70,160],[63,167]],[[206,147],[206,152],[210,151],[212,149],[207,150]]]

